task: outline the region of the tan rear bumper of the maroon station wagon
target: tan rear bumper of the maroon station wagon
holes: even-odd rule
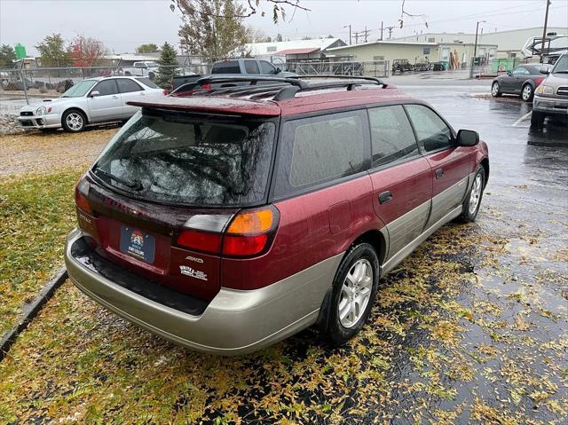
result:
[[[115,283],[109,270],[101,273],[78,261],[72,248],[82,238],[77,229],[69,234],[65,263],[69,278],[84,294],[164,339],[222,355],[259,350],[315,323],[342,257],[328,258],[269,287],[221,288],[200,314],[190,314]]]

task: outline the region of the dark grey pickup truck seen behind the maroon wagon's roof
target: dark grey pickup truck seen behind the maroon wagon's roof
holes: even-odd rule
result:
[[[211,75],[215,76],[276,76],[280,78],[297,76],[296,73],[282,71],[274,67],[268,60],[263,59],[226,59],[215,62],[211,68]],[[181,75],[173,78],[174,90],[186,83],[195,83],[197,80],[209,75]],[[232,83],[238,85],[239,83]]]

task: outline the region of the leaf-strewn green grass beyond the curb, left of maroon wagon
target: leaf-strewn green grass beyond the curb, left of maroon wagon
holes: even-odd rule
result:
[[[0,182],[0,334],[23,303],[63,265],[65,236],[75,224],[77,169]]]

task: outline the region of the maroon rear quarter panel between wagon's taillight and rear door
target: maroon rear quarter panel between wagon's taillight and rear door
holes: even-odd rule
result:
[[[343,253],[362,233],[383,227],[373,210],[372,190],[365,174],[277,201],[280,227],[272,248],[258,258],[224,258],[222,286],[264,287]]]

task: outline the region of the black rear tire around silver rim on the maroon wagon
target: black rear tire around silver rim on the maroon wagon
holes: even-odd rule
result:
[[[339,306],[342,300],[346,303],[350,303],[349,300],[345,299],[345,293],[342,291],[342,288],[343,283],[347,279],[347,274],[351,272],[351,269],[356,267],[355,264],[364,264],[365,267],[368,267],[370,272],[372,272],[371,281],[369,283],[371,288],[368,292],[368,299],[365,308],[362,311],[359,311],[358,316],[353,316],[353,319],[358,319],[353,320],[351,326],[345,327],[342,324],[342,319],[339,317]],[[375,303],[376,291],[379,284],[379,271],[379,259],[376,255],[375,248],[368,243],[361,243],[351,248],[351,250],[343,257],[343,260],[335,273],[331,298],[325,307],[327,309],[325,313],[326,319],[323,322],[324,325],[321,331],[327,340],[336,345],[341,345],[359,333],[361,327],[363,327],[367,321],[371,309],[373,308],[373,304]],[[361,291],[363,290],[362,287],[359,289]],[[363,295],[363,293],[361,292],[358,295]],[[350,305],[355,306],[356,303],[351,301]]]

